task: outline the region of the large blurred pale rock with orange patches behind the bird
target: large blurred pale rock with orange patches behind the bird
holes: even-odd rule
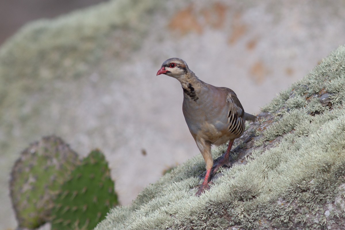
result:
[[[99,2],[3,1],[0,39]],[[258,113],[345,43],[344,19],[341,0],[113,0],[27,24],[0,47],[0,229],[16,226],[9,171],[30,142],[54,133],[82,156],[100,148],[129,204],[199,154],[179,82],[156,77],[163,61],[184,59]]]

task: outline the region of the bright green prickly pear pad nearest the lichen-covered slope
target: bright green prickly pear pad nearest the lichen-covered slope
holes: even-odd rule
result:
[[[93,229],[117,204],[108,162],[94,150],[61,186],[52,210],[51,229]]]

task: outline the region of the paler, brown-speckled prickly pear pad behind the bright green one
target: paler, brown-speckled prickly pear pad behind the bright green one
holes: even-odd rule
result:
[[[21,153],[10,178],[19,227],[34,229],[50,219],[52,199],[78,163],[77,153],[56,136],[44,137]]]

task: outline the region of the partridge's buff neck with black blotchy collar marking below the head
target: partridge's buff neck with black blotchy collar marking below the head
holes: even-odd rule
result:
[[[202,81],[190,71],[187,72],[184,78],[178,79],[181,83],[184,98],[186,100],[197,101],[199,99],[199,92],[202,87]]]

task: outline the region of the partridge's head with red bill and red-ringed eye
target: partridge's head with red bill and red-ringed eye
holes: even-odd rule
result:
[[[161,68],[157,72],[159,74],[165,74],[173,78],[180,78],[190,71],[187,63],[180,58],[170,58],[163,62]]]

